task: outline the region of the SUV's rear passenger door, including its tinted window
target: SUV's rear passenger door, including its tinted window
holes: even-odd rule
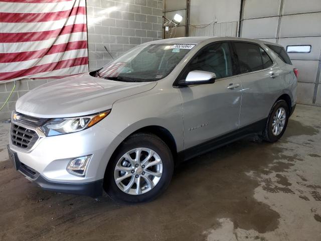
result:
[[[241,128],[268,116],[283,88],[282,70],[258,44],[233,42],[232,46],[242,83]]]

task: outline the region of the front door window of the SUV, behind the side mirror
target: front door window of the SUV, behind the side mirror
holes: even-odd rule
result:
[[[228,43],[217,43],[203,49],[194,57],[182,77],[186,78],[193,70],[213,72],[217,79],[231,76],[232,64]]]

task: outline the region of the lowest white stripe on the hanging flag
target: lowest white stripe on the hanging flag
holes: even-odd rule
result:
[[[76,49],[76,50],[70,50],[62,53],[46,55],[40,59],[32,59],[32,60],[27,60],[22,62],[13,62],[13,63],[0,63],[0,69],[2,70],[2,72],[14,72],[14,71],[23,70],[23,69],[29,69],[33,66],[38,66],[42,64],[50,64],[61,60],[87,57],[87,56],[88,56],[87,49]]]

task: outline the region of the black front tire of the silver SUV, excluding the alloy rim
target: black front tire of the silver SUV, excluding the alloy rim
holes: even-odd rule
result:
[[[150,191],[140,195],[131,195],[121,191],[115,183],[114,169],[124,153],[139,147],[149,148],[161,157],[163,174],[156,186]],[[129,137],[119,146],[115,155],[110,159],[110,162],[105,173],[104,189],[107,194],[116,201],[136,203],[153,200],[166,190],[173,176],[174,162],[169,147],[161,139],[151,134],[135,134]]]

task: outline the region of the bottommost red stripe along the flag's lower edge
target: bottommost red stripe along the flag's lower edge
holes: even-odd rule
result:
[[[88,64],[88,57],[61,60],[54,63],[34,66],[29,69],[18,70],[14,72],[3,72],[3,73],[0,73],[0,80],[14,79],[18,77],[27,76],[27,75],[32,75],[32,74],[37,74],[42,72],[49,72],[57,69],[70,68],[70,67],[85,65],[85,64]]]

